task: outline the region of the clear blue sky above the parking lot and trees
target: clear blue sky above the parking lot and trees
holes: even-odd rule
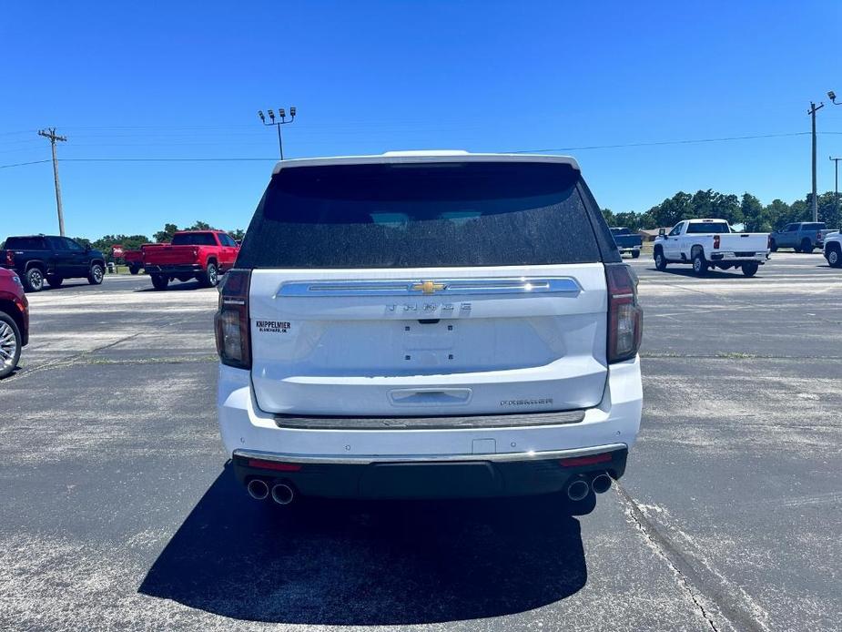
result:
[[[816,100],[820,190],[842,155],[837,0],[172,5],[5,5],[0,167],[49,158],[37,128],[66,134],[70,235],[245,228],[271,160],[114,158],[274,158],[268,107],[298,107],[287,158],[579,148],[560,153],[615,211],[679,189],[801,198],[810,138],[591,147],[808,132]],[[57,232],[49,163],[0,168],[0,239],[28,232]]]

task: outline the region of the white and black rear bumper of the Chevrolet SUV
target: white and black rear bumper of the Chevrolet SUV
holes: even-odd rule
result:
[[[280,478],[302,494],[334,497],[543,494],[563,489],[579,472],[559,465],[565,454],[609,452],[611,463],[592,469],[620,476],[640,427],[642,400],[640,361],[635,358],[611,365],[602,402],[584,411],[577,423],[289,428],[259,410],[248,371],[220,365],[218,380],[220,433],[240,480]],[[276,471],[249,466],[255,459],[301,467]],[[431,485],[425,488],[416,479]],[[442,480],[447,484],[441,485]]]

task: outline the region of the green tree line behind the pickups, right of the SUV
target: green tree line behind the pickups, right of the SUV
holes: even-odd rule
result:
[[[664,199],[643,213],[634,210],[622,213],[614,213],[611,209],[602,210],[609,226],[624,226],[633,230],[670,228],[682,219],[719,218],[726,219],[729,224],[742,224],[744,230],[751,232],[772,232],[791,222],[811,221],[812,201],[813,195],[808,193],[804,199],[796,199],[792,204],[773,199],[764,205],[750,193],[737,197],[733,193],[707,189],[693,194],[678,191],[672,198]],[[819,195],[817,205],[818,220],[824,221],[828,229],[839,229],[842,226],[842,213],[833,191]]]

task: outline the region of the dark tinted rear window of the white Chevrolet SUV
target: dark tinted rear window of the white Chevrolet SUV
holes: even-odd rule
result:
[[[542,163],[281,169],[243,268],[415,268],[600,260],[578,171]],[[601,218],[600,218],[601,219]]]

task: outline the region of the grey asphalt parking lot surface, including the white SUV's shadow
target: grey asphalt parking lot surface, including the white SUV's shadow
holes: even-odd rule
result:
[[[631,262],[642,432],[579,518],[546,498],[255,502],[218,439],[216,291],[30,295],[0,382],[0,628],[838,629],[842,270]]]

